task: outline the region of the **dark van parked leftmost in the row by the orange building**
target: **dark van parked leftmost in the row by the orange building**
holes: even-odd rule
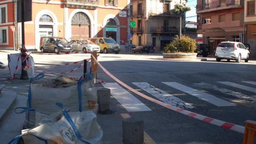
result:
[[[41,37],[40,39],[41,52],[72,52],[72,44],[65,38],[61,37]]]

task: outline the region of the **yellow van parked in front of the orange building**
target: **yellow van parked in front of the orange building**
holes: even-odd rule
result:
[[[120,46],[113,38],[89,38],[88,40],[100,47],[100,53],[107,54],[113,52],[118,54],[120,52]]]

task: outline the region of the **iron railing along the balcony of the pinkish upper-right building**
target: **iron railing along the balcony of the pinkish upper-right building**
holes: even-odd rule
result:
[[[219,8],[223,6],[235,6],[240,5],[240,0],[218,0],[218,1],[211,1],[209,3],[203,3],[196,5],[196,10],[206,10],[211,8]]]

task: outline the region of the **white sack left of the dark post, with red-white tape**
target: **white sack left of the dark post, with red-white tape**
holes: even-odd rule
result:
[[[13,78],[13,74],[21,74],[21,54],[8,54],[8,67],[10,71],[10,77]],[[19,61],[18,61],[19,58]],[[17,66],[17,70],[16,70]]]

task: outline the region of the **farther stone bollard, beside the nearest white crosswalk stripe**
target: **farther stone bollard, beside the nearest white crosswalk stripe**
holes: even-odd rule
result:
[[[99,113],[108,113],[110,105],[110,89],[99,88],[97,90],[97,98]]]

